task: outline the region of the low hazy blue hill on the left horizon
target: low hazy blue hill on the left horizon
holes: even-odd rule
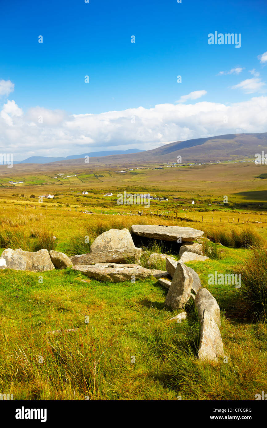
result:
[[[30,158],[20,160],[20,161],[14,161],[14,163],[51,163],[51,162],[57,162],[59,160],[69,160],[69,159],[81,159],[85,156],[89,157],[102,157],[102,156],[111,156],[111,155],[128,155],[131,153],[139,153],[139,152],[145,152],[145,150],[139,150],[139,149],[129,149],[129,150],[106,150],[103,152],[90,152],[90,153],[83,153],[82,155],[70,155],[66,158],[52,158],[48,156],[31,156]]]

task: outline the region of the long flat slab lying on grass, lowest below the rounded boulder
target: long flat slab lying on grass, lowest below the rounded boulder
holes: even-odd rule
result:
[[[77,265],[72,266],[73,270],[78,270],[89,278],[95,278],[99,281],[123,282],[136,279],[148,278],[151,271],[140,265],[116,263],[97,263],[96,265]]]

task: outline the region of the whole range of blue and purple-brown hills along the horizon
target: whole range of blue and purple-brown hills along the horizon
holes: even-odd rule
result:
[[[110,152],[91,152],[83,155],[72,155],[67,158],[32,157],[20,163],[45,163],[46,170],[69,169],[79,166],[88,168],[84,156],[90,157],[90,165],[96,167],[127,168],[137,165],[154,165],[164,162],[176,162],[181,156],[182,163],[216,162],[224,160],[242,160],[254,158],[256,153],[267,152],[267,133],[261,134],[228,134],[216,137],[196,138],[194,140],[175,141],[152,150],[112,150]],[[112,153],[112,155],[110,155]],[[18,163],[18,162],[14,162]],[[19,168],[21,169],[21,168]],[[30,169],[30,166],[27,166]],[[34,166],[31,168],[35,169]]]

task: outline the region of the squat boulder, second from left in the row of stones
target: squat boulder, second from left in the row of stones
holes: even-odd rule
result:
[[[51,261],[48,250],[39,251],[23,251],[21,248],[15,250],[15,253],[20,254],[26,259],[25,270],[32,272],[44,272],[45,270],[53,270],[55,267]]]

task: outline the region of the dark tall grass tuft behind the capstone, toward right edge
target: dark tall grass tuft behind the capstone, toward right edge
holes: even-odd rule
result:
[[[225,247],[250,248],[262,243],[262,238],[249,226],[237,229],[234,227],[204,228],[205,236],[211,241],[220,242]]]

